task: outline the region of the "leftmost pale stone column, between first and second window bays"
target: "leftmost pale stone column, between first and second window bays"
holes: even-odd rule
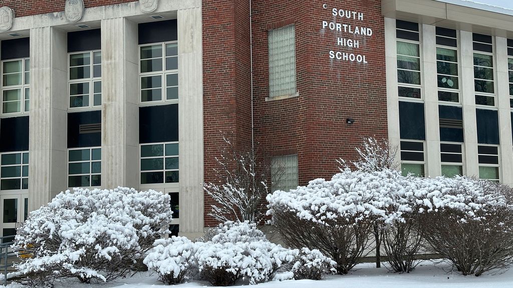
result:
[[[30,29],[29,211],[67,187],[67,34]]]

